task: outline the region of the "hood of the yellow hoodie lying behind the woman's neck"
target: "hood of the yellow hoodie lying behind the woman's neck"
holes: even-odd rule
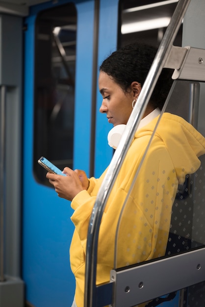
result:
[[[135,133],[135,137],[152,135],[158,116]],[[164,113],[154,137],[159,137],[167,148],[173,161],[179,184],[187,174],[193,174],[200,167],[199,156],[205,154],[205,138],[183,118]]]

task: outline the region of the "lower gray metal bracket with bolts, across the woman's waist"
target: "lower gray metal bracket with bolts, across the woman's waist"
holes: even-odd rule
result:
[[[157,260],[157,261],[156,261]],[[205,281],[205,248],[111,270],[112,307],[130,307]]]

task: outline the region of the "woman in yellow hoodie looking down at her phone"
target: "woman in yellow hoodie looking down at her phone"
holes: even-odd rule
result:
[[[113,52],[100,67],[99,90],[103,96],[100,112],[114,127],[126,125],[152,65],[156,50],[138,44]],[[166,250],[171,210],[178,184],[200,166],[205,139],[182,118],[164,113],[139,169],[143,154],[170,88],[170,74],[163,71],[135,132],[126,158],[107,201],[99,232],[97,284],[109,281],[110,270],[158,256]],[[129,188],[135,177],[133,188]],[[93,205],[106,170],[99,179],[88,179],[80,170],[66,167],[66,177],[48,173],[59,197],[71,201],[75,231],[70,248],[76,278],[75,301],[83,307],[87,230]],[[117,257],[114,263],[118,220]],[[75,305],[74,305],[75,306]]]

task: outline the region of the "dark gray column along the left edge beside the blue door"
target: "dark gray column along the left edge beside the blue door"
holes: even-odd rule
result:
[[[21,279],[22,18],[0,15],[0,307],[24,306]]]

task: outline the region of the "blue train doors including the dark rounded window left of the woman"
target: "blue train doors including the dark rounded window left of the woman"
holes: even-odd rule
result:
[[[83,169],[91,176],[111,159],[103,131],[108,125],[98,126],[95,134],[98,55],[103,58],[117,44],[118,0],[111,9],[109,2],[50,1],[30,7],[25,20],[22,266],[27,306],[71,306],[74,298],[72,209],[57,197],[37,160],[43,155],[60,169]]]

